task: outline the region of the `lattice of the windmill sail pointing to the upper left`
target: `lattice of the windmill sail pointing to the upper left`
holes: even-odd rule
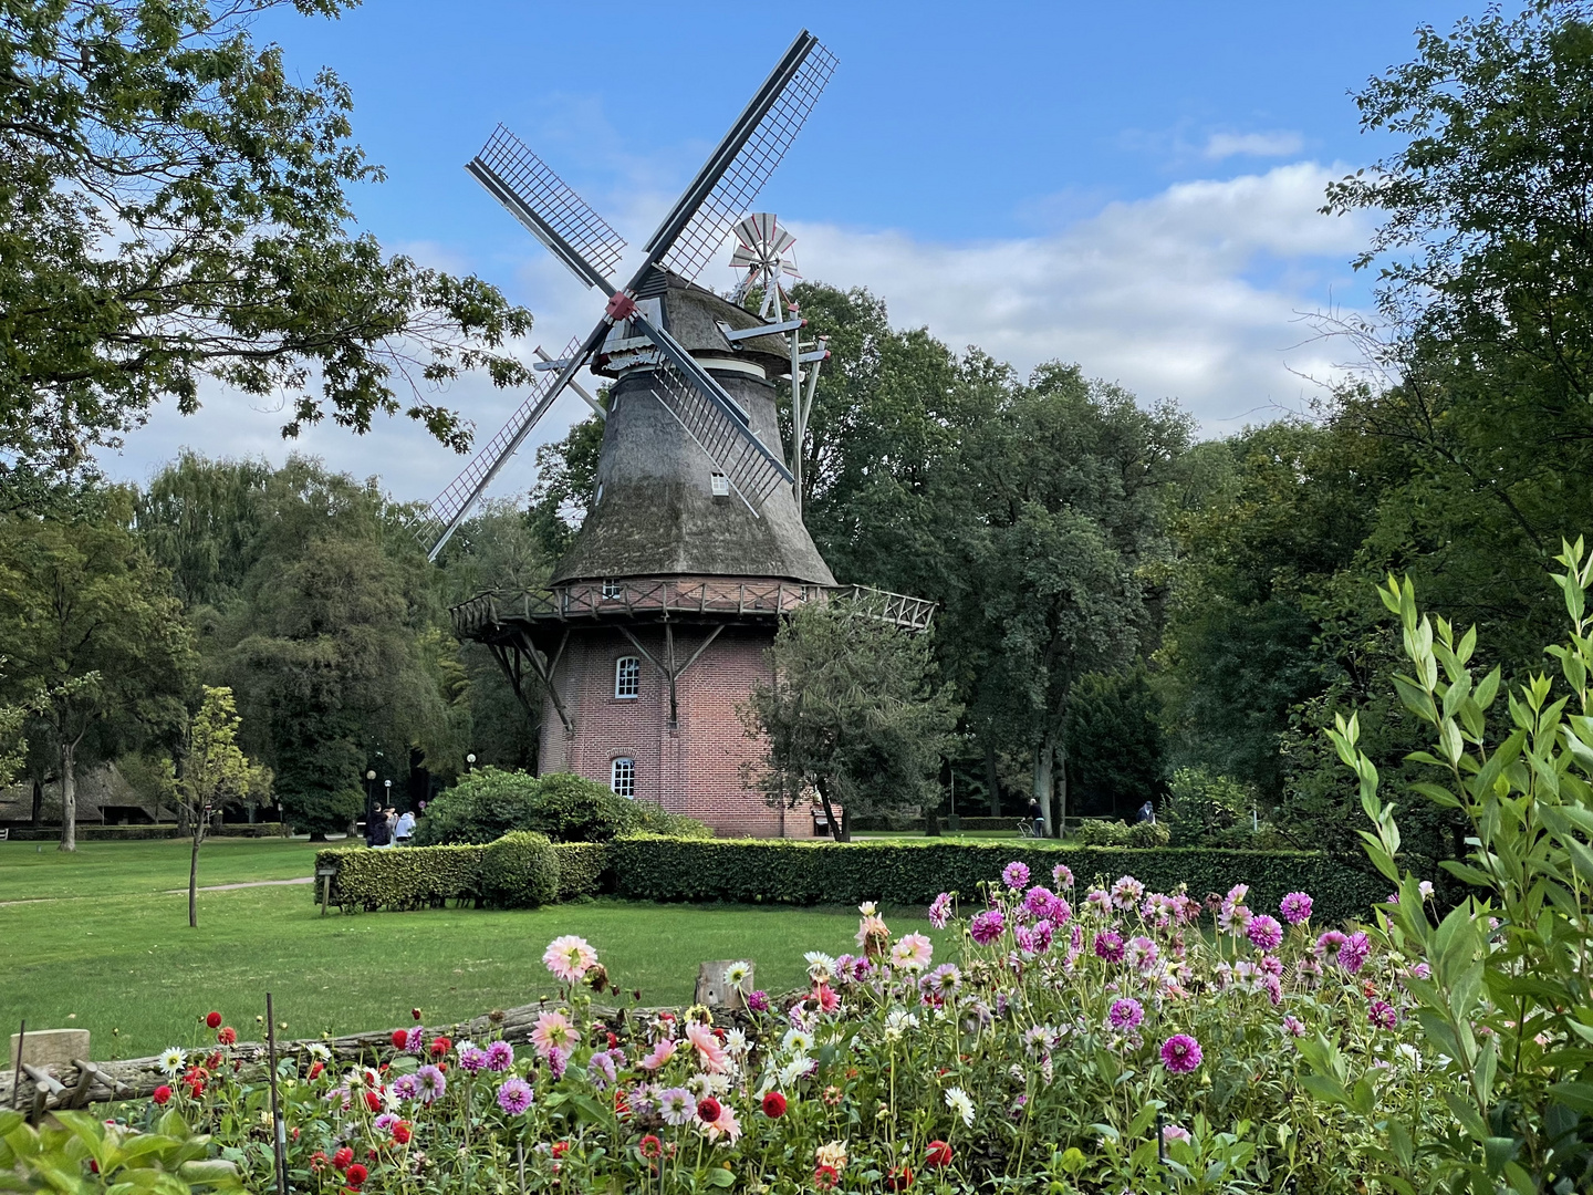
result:
[[[624,237],[548,169],[542,158],[527,150],[519,137],[499,124],[481,153],[470,163],[470,170],[486,183],[487,190],[495,193],[492,183],[497,182],[519,201],[532,221],[524,220],[505,196],[497,196],[554,257],[575,271],[581,282],[589,287],[609,287],[607,277],[620,266],[620,258],[624,255]],[[538,221],[543,228],[537,226]],[[573,250],[573,261],[569,250]],[[597,277],[591,277],[593,269]]]

